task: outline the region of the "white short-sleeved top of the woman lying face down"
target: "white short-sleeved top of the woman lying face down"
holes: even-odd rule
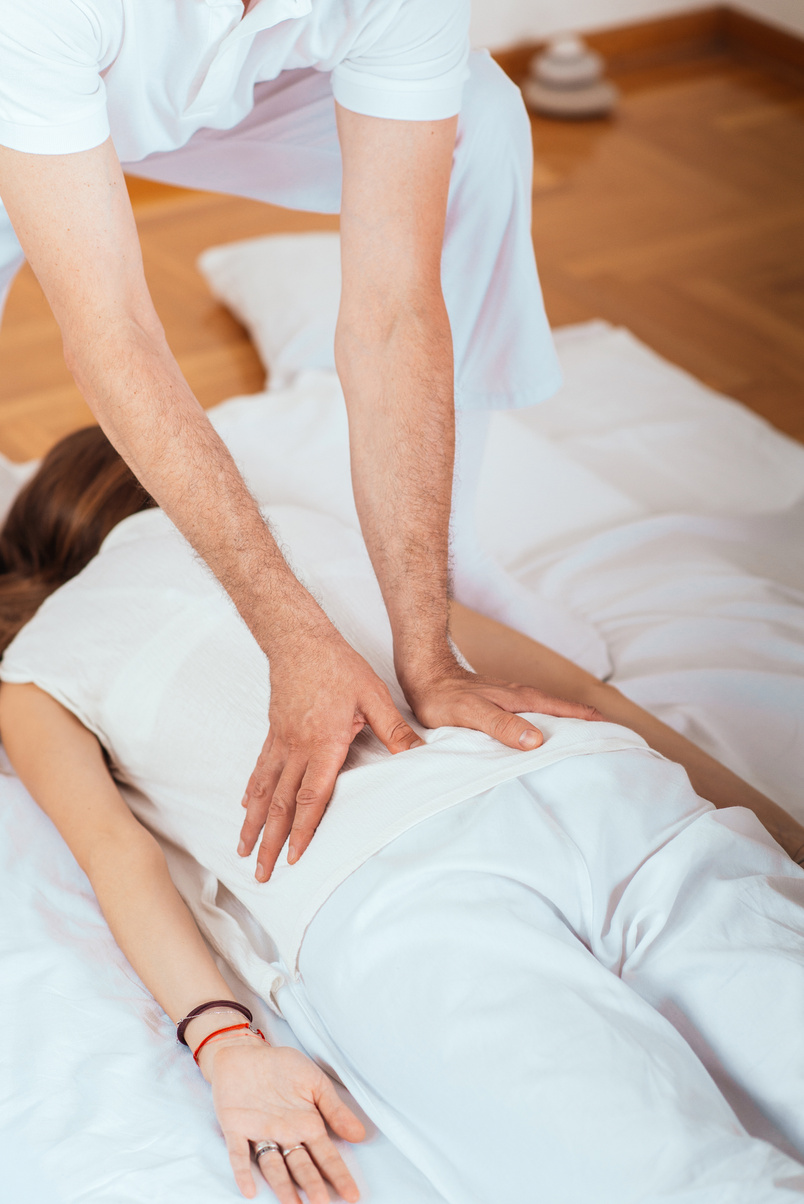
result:
[[[645,748],[614,724],[550,716],[537,718],[546,738],[531,752],[466,728],[421,728],[394,675],[391,630],[361,537],[297,507],[267,517],[294,571],[426,742],[391,756],[362,732],[309,849],[295,866],[285,849],[267,884],[254,879],[255,856],[243,860],[236,849],[241,798],[267,733],[268,667],[223,588],[160,510],[116,527],[0,665],[5,681],[35,683],[97,736],[135,814],[201,867],[177,862],[177,885],[202,931],[265,998],[277,985],[268,962],[278,955],[295,970],[318,908],[396,836],[563,757]],[[255,949],[244,913],[271,948]]]

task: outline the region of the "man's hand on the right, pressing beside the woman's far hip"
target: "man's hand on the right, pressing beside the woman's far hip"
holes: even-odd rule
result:
[[[472,727],[492,736],[510,749],[537,749],[544,736],[519,712],[561,715],[564,719],[602,720],[580,702],[556,698],[530,685],[515,685],[481,677],[462,668],[454,659],[427,678],[406,680],[404,692],[416,719],[425,727]]]

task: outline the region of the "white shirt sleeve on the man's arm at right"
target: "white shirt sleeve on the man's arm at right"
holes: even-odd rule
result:
[[[379,7],[383,19],[368,23],[332,71],[335,99],[366,117],[455,117],[468,75],[468,0],[398,0]]]

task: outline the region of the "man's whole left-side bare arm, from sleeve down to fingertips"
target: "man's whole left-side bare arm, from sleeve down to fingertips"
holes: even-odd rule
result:
[[[271,661],[267,878],[294,830],[309,843],[349,744],[416,736],[373,669],[295,579],[173,359],[146,285],[111,141],[70,155],[0,148],[0,195],[61,329],[65,359],[112,443],[207,561]]]

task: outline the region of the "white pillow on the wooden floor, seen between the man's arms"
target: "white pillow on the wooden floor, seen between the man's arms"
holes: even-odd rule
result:
[[[199,268],[254,340],[268,388],[283,389],[303,368],[335,368],[337,234],[270,235],[209,247]]]

